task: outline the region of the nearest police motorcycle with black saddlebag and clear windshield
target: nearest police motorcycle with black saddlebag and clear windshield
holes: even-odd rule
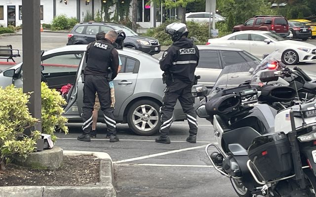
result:
[[[279,71],[256,68],[226,66],[209,95],[193,87],[205,97],[197,115],[212,122],[218,143],[206,155],[239,197],[316,197],[316,101],[276,109],[271,102],[289,102],[297,89]]]

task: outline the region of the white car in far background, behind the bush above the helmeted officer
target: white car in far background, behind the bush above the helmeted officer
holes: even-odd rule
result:
[[[193,21],[197,23],[209,23],[209,18],[213,21],[213,13],[211,12],[190,12],[186,13],[186,21]],[[215,22],[225,21],[225,17],[215,13]]]

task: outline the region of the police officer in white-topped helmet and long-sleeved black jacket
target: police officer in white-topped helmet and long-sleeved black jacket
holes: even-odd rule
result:
[[[195,82],[195,70],[198,64],[199,52],[192,39],[187,38],[189,32],[183,23],[172,23],[166,27],[166,33],[172,37],[173,44],[160,60],[160,69],[164,71],[163,81],[166,83],[163,103],[160,109],[161,122],[158,143],[170,143],[169,129],[172,123],[174,105],[179,99],[183,111],[187,115],[190,135],[187,141],[197,142],[197,114],[194,110],[194,99],[191,94]]]

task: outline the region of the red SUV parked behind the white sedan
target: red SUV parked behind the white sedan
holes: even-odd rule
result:
[[[233,28],[233,32],[244,30],[269,31],[282,37],[290,34],[287,20],[283,16],[259,15]]]

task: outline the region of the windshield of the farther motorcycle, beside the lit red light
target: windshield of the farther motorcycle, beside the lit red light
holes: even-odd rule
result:
[[[281,62],[282,53],[279,50],[274,51],[270,55],[268,55],[265,59],[263,59],[258,66],[252,72],[251,84],[258,85],[261,83],[259,78],[260,73],[264,70],[278,70],[277,62]]]

